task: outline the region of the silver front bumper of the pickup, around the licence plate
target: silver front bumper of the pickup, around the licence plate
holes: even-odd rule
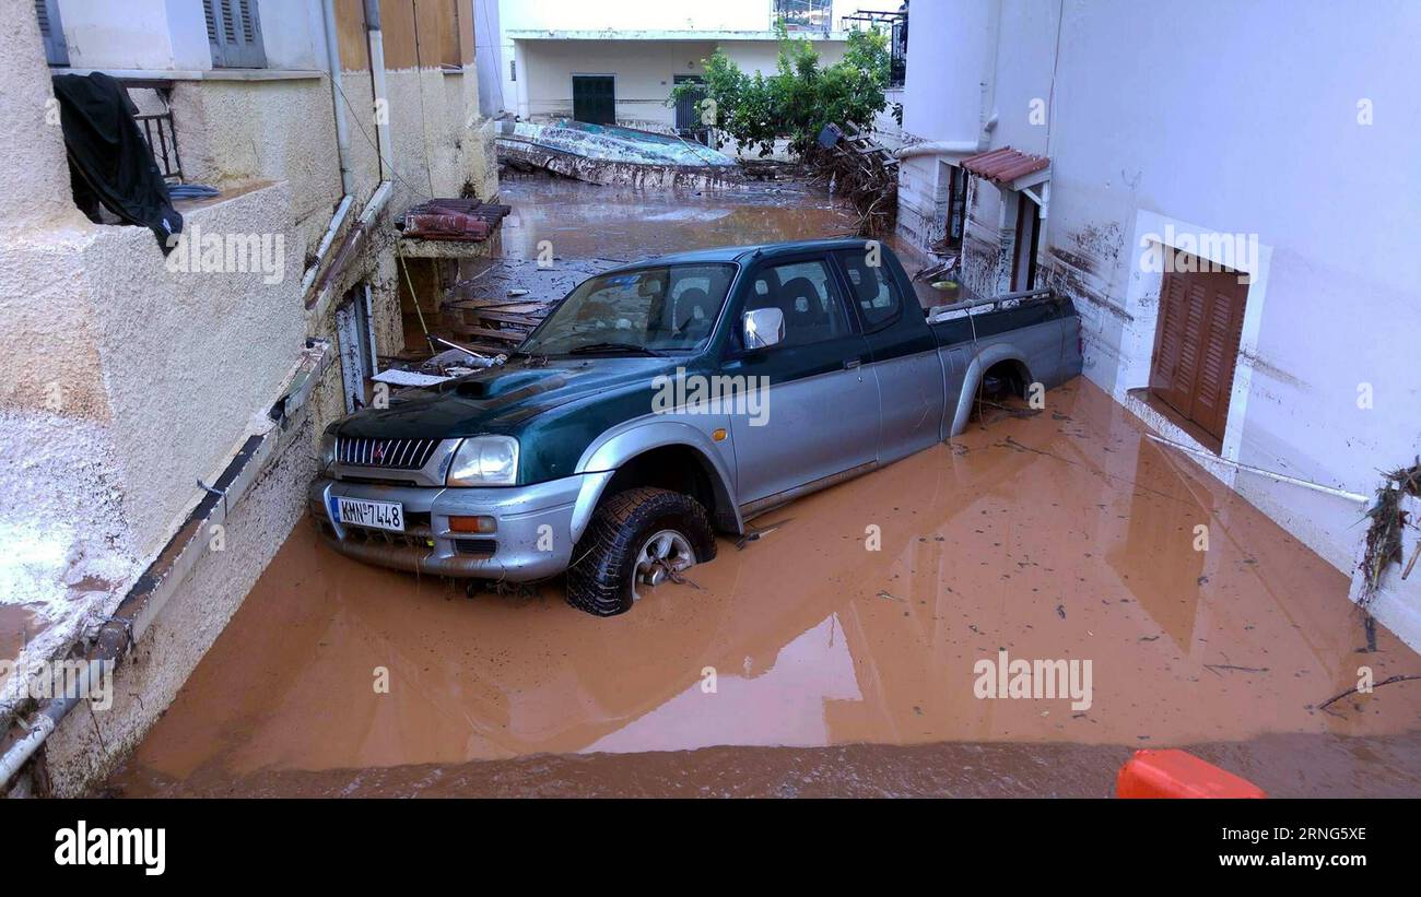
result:
[[[567,569],[611,474],[578,474],[499,488],[352,483],[318,477],[307,495],[325,542],[342,555],[416,573],[529,582]],[[398,501],[405,532],[341,524],[335,497]],[[495,532],[450,532],[449,517],[493,517]]]

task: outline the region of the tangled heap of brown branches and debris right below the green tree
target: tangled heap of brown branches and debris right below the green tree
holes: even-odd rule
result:
[[[860,237],[882,237],[898,226],[898,159],[888,148],[860,133],[827,125],[804,153],[813,180],[828,186],[858,213]]]

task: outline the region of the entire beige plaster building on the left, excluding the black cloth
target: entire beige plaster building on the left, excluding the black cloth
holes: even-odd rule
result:
[[[124,654],[102,732],[75,714],[45,742],[55,793],[168,705],[303,512],[321,429],[404,348],[396,246],[421,247],[395,221],[496,194],[472,11],[0,0],[0,615],[24,661]],[[219,192],[176,203],[190,243],[75,206],[51,77],[94,71],[169,185]],[[33,708],[17,681],[0,741]]]

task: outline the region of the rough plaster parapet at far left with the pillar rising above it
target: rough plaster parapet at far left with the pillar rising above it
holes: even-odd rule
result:
[[[34,661],[112,613],[202,497],[198,480],[266,426],[303,346],[300,240],[286,185],[185,210],[189,234],[267,236],[273,251],[280,236],[274,282],[173,271],[146,229],[88,221],[47,115],[33,4],[3,3],[0,159],[16,177],[0,196],[0,600],[47,622],[26,651]]]

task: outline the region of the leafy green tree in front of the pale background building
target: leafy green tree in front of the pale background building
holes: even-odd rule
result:
[[[844,58],[821,67],[813,43],[791,40],[783,24],[776,33],[774,74],[746,74],[716,50],[703,60],[705,84],[676,85],[671,102],[705,91],[698,104],[702,123],[719,128],[736,149],[759,146],[762,156],[774,152],[777,138],[787,138],[790,152],[804,156],[830,122],[871,129],[874,115],[887,105],[888,37],[877,30],[850,31]]]

